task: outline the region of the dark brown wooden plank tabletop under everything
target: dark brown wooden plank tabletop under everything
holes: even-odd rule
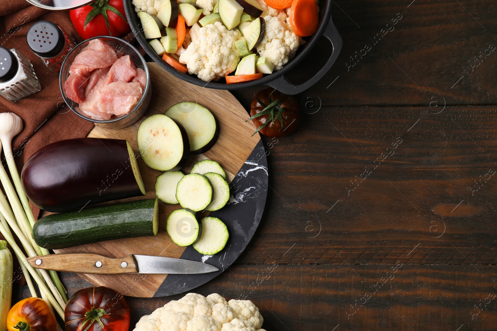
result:
[[[492,0],[337,1],[338,60],[299,96],[299,129],[264,139],[259,228],[195,291],[246,294],[268,331],[496,330],[496,13]],[[329,53],[323,40],[289,79]],[[248,107],[257,90],[234,94]],[[70,294],[89,285],[62,277]],[[128,298],[133,328],[179,297]]]

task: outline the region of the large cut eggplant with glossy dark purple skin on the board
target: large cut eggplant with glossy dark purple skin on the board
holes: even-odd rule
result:
[[[47,145],[26,162],[21,182],[31,202],[50,212],[145,195],[135,153],[121,139],[77,138]]]

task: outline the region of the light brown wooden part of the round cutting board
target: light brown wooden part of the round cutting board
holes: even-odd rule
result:
[[[127,139],[135,150],[135,153],[138,155],[136,133],[138,127],[140,126],[140,123],[146,117],[154,114],[164,114],[170,106],[178,102],[198,102],[207,107],[218,120],[220,127],[220,136],[214,147],[212,147],[209,151],[205,152],[204,154],[190,156],[188,163],[182,169],[182,171],[184,173],[189,173],[191,167],[195,162],[201,159],[208,158],[218,161],[221,164],[221,166],[226,171],[228,182],[231,182],[234,179],[235,175],[242,168],[242,166],[244,166],[244,163],[246,163],[249,155],[252,153],[260,140],[260,136],[258,134],[254,135],[253,137],[250,136],[254,131],[254,126],[251,122],[245,122],[248,119],[247,111],[228,91],[213,90],[189,84],[169,74],[157,63],[149,63],[148,66],[150,76],[152,78],[153,95],[150,106],[145,116],[142,117],[137,123],[124,129],[115,130],[95,127],[88,134],[88,137]],[[138,158],[138,163],[140,165],[140,170],[147,189],[146,197],[123,199],[119,201],[112,201],[112,203],[136,199],[155,198],[154,184],[156,181],[156,177],[162,172],[149,168],[143,163],[141,158]],[[265,201],[265,194],[263,198]],[[129,254],[156,255],[179,258],[185,251],[185,247],[179,247],[175,245],[170,240],[165,231],[166,218],[168,214],[172,210],[178,208],[180,208],[179,205],[161,203],[161,226],[159,234],[155,237],[109,240],[99,243],[56,250],[56,253],[96,253],[114,258],[124,257]],[[204,215],[202,215],[202,217],[203,216]],[[225,250],[227,249],[229,248],[225,248]],[[124,295],[152,297],[156,294],[161,284],[163,284],[167,275],[80,274],[80,276],[92,284],[114,288]]]

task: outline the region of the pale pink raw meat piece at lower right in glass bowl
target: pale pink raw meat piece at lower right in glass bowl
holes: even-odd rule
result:
[[[116,81],[106,85],[98,92],[98,110],[116,116],[128,114],[142,97],[139,82]]]

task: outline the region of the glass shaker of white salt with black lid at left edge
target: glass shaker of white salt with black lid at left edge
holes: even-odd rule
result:
[[[18,101],[41,90],[31,62],[15,48],[0,46],[0,95]]]

